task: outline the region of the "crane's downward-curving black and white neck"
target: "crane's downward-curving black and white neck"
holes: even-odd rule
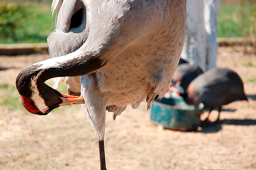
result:
[[[16,88],[21,96],[30,98],[34,93],[33,89],[44,88],[44,82],[50,78],[92,73],[105,64],[106,62],[96,55],[81,56],[77,51],[49,58],[34,63],[20,72],[16,78]]]

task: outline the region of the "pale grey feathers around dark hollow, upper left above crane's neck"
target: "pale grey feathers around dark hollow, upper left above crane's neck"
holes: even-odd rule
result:
[[[53,0],[53,11],[57,8],[58,3],[59,0]],[[84,11],[85,17],[82,23],[76,28],[69,29],[72,15],[82,7],[86,8],[80,0],[60,0],[56,14],[56,31],[47,38],[51,57],[73,52],[87,40],[91,26],[90,8],[86,8]]]

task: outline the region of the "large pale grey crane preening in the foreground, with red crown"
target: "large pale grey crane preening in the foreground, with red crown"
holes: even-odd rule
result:
[[[58,6],[54,0],[52,10]],[[186,33],[186,0],[60,0],[56,31],[48,37],[53,58],[34,63],[16,78],[25,108],[47,115],[85,103],[106,170],[106,109],[114,118],[128,104],[163,97],[177,68]],[[69,96],[54,88],[67,77]]]

